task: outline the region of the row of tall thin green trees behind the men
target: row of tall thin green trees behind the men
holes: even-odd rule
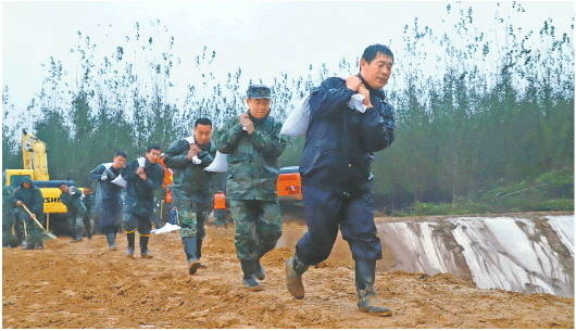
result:
[[[573,168],[574,22],[562,34],[552,20],[525,30],[511,20],[524,8],[506,5],[508,14],[496,14],[493,34],[475,22],[472,8],[448,5],[446,33],[415,18],[401,43],[390,44],[404,64],[395,68],[388,96],[396,107],[396,141],[373,166],[376,192],[390,207],[454,203],[471,192]],[[42,90],[25,112],[11,105],[4,87],[4,168],[21,166],[20,130],[26,124],[48,145],[51,177],[85,186],[87,173],[116,150],[137,156],[150,143],[165,148],[189,135],[199,117],[218,128],[245,111],[252,81],[241,68],[218,76],[217,54],[208,47],[193,58],[196,76],[186,96],[176,98],[174,73],[186,65],[174,43],[160,22],[146,28],[136,23],[123,44],[97,59],[98,46],[78,31],[71,49],[78,67],[50,59]],[[342,59],[309,65],[298,77],[279,73],[272,82],[273,115],[284,119],[312,87],[354,73],[356,64]],[[68,71],[79,74],[72,78]],[[293,165],[301,148],[302,139],[292,141],[281,165]]]

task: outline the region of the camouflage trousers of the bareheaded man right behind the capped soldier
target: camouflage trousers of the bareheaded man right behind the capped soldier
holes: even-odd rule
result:
[[[175,201],[180,226],[180,237],[197,237],[202,240],[205,235],[204,225],[211,212],[209,202],[197,202],[190,199],[177,199]]]

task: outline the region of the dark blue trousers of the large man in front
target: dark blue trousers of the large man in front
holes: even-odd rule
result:
[[[352,258],[381,258],[381,244],[374,225],[374,198],[370,189],[338,192],[304,184],[304,218],[308,232],[296,244],[298,259],[316,265],[330,255],[338,229],[350,245]]]

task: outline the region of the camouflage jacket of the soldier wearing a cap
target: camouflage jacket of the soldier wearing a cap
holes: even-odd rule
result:
[[[252,118],[254,132],[242,130],[235,116],[222,128],[218,151],[228,154],[226,195],[234,200],[275,201],[278,156],[286,148],[281,124],[266,116]]]

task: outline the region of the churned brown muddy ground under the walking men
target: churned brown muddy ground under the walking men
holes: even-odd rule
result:
[[[105,240],[46,242],[43,251],[3,249],[3,328],[574,328],[574,300],[478,290],[451,275],[378,272],[376,288],[392,317],[356,310],[346,252],[304,276],[306,297],[284,285],[284,260],[302,226],[285,224],[263,259],[265,290],[242,289],[234,232],[208,229],[206,269],[187,273],[177,232],[151,239],[152,259],[108,252]]]

